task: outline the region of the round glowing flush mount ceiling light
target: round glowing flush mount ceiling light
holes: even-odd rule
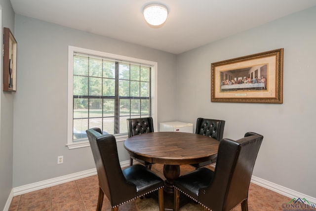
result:
[[[168,9],[162,4],[149,4],[144,8],[144,17],[147,23],[153,26],[163,24],[168,16]]]

